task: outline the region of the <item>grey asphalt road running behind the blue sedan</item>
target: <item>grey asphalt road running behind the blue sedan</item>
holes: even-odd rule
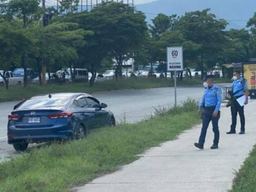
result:
[[[221,84],[224,86],[227,84]],[[180,103],[188,97],[200,99],[204,88],[202,86],[178,87],[177,102]],[[121,90],[92,94],[108,104],[117,121],[136,122],[154,113],[159,106],[174,105],[174,88],[155,88],[146,90]],[[17,102],[0,104],[0,161],[4,158],[14,157],[19,153],[14,151],[12,145],[7,144],[7,116]]]

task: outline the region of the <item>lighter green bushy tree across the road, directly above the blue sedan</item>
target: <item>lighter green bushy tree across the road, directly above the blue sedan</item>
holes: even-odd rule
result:
[[[78,59],[77,49],[85,45],[85,36],[92,32],[78,29],[78,23],[52,23],[46,27],[36,27],[38,52],[35,57],[38,61],[44,61],[47,68],[55,63],[55,60],[62,62],[64,66],[70,67],[72,81],[75,81],[75,74],[72,73],[74,61]],[[40,69],[41,67],[38,67]],[[41,73],[41,70],[38,71]],[[49,70],[48,70],[49,72]],[[40,84],[41,84],[41,79]]]

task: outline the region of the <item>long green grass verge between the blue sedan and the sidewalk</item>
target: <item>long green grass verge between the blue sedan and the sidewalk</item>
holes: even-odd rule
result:
[[[188,100],[177,108],[157,110],[157,116],[136,124],[101,128],[83,140],[33,148],[0,163],[0,192],[69,192],[199,123],[197,105]]]

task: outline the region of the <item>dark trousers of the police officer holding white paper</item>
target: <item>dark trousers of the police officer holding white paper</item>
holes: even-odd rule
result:
[[[241,131],[244,131],[245,127],[245,118],[244,118],[244,106],[241,107],[239,103],[236,101],[238,97],[232,98],[231,101],[231,115],[232,115],[232,125],[230,126],[231,131],[236,131],[236,120],[237,120],[237,112],[240,116],[240,122],[241,122]]]

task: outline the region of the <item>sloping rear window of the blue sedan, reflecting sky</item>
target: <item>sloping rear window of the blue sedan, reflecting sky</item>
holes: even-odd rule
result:
[[[18,109],[34,109],[34,108],[63,108],[70,97],[38,96],[24,102]]]

